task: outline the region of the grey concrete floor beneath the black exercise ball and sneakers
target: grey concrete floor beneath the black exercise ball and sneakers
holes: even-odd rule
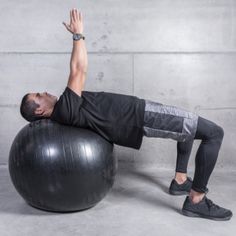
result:
[[[114,187],[100,203],[87,211],[59,214],[27,205],[14,189],[7,166],[2,166],[0,235],[235,235],[234,216],[225,222],[183,216],[180,210],[185,197],[167,192],[172,176],[171,170],[134,170],[132,165],[124,168],[119,164]],[[233,213],[235,177],[236,172],[214,172],[208,185],[208,197]]]

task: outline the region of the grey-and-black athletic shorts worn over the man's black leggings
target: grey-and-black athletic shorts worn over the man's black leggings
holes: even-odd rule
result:
[[[144,135],[179,142],[194,139],[198,115],[182,108],[145,100]]]

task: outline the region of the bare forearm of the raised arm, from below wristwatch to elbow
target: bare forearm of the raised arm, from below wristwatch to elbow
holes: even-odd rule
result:
[[[87,72],[88,67],[88,55],[85,46],[85,41],[80,39],[78,41],[73,40],[73,49],[70,60],[70,70],[75,72],[78,70]]]

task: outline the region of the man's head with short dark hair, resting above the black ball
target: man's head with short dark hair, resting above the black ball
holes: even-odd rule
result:
[[[27,93],[21,101],[20,113],[27,121],[49,118],[57,97],[49,93]]]

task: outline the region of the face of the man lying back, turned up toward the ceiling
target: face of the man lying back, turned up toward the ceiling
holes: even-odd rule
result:
[[[32,99],[35,103],[40,105],[35,111],[37,115],[47,115],[48,111],[51,111],[57,102],[57,97],[47,92],[30,93],[28,99]]]

